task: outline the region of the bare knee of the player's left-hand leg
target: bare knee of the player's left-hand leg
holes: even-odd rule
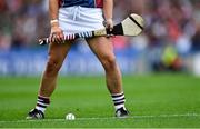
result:
[[[58,59],[49,59],[47,62],[46,75],[56,76],[60,70],[61,62]]]

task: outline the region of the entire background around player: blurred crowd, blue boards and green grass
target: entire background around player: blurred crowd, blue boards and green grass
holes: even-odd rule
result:
[[[114,0],[114,22],[134,12],[142,34],[114,37],[131,117],[113,118],[101,64],[79,40],[66,60],[47,120],[27,121],[36,105],[48,47],[48,0],[0,0],[0,128],[200,127],[200,1]],[[76,121],[66,121],[73,112]]]

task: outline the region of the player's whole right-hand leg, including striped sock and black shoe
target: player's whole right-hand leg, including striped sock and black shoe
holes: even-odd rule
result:
[[[87,41],[104,68],[107,87],[114,105],[116,117],[128,117],[129,111],[124,107],[126,98],[122,89],[121,72],[116,61],[112,42],[106,37],[92,38]]]

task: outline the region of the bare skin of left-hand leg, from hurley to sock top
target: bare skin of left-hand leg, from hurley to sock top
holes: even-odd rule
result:
[[[72,43],[69,41],[63,44],[50,43],[48,62],[42,76],[39,96],[50,97],[53,92],[56,88],[58,72],[71,46]]]

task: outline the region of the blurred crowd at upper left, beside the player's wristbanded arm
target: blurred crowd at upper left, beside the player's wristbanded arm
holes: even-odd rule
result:
[[[0,49],[36,46],[48,26],[47,0],[0,0]]]

